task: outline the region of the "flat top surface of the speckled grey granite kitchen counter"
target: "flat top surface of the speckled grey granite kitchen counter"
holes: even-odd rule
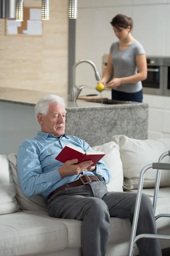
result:
[[[10,102],[20,105],[29,105],[35,106],[38,100],[44,96],[47,96],[51,92],[42,92],[36,90],[23,90],[19,88],[9,88],[9,87],[0,87],[0,102]],[[100,108],[126,108],[129,105],[134,106],[141,106],[147,105],[146,103],[139,103],[133,102],[132,104],[115,104],[115,105],[105,105],[96,102],[88,102],[86,100],[77,99],[76,102],[69,102],[68,101],[68,94],[67,93],[54,93],[57,94],[65,99],[65,107],[66,108],[91,108],[91,107],[100,107]]]

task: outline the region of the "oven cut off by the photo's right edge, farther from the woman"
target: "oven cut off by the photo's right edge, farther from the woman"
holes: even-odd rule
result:
[[[164,57],[164,96],[170,96],[170,57]]]

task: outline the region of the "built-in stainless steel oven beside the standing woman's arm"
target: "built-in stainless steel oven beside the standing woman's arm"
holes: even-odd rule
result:
[[[164,93],[164,58],[147,56],[147,79],[142,81],[146,94],[163,95]]]

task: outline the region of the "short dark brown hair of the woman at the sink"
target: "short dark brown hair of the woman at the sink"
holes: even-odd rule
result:
[[[132,18],[127,17],[126,15],[118,14],[115,17],[113,17],[113,19],[111,21],[111,25],[115,26],[117,29],[119,29],[119,28],[127,29],[128,26],[130,26],[132,29],[133,20],[132,20]]]

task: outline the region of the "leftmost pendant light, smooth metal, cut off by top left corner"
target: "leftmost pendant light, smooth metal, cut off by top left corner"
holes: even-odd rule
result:
[[[0,18],[15,18],[16,0],[0,0]]]

